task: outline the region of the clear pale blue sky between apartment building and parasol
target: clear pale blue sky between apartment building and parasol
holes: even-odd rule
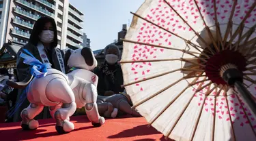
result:
[[[70,0],[84,14],[84,28],[91,49],[103,49],[117,39],[122,24],[132,22],[132,14],[145,0]],[[130,24],[129,24],[130,25]]]

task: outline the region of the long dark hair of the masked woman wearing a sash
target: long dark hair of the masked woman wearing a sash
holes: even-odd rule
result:
[[[57,45],[58,45],[57,26],[56,26],[55,20],[53,18],[48,18],[48,17],[39,18],[35,22],[35,24],[33,25],[33,30],[31,32],[31,35],[29,38],[29,43],[32,43],[35,46],[38,45],[38,41],[40,41],[39,35],[44,30],[44,25],[47,22],[51,22],[51,24],[53,25],[54,38],[53,38],[52,47],[57,47]]]

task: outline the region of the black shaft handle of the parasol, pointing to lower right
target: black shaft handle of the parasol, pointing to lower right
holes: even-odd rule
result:
[[[252,94],[244,87],[242,84],[243,75],[238,68],[227,68],[225,71],[223,70],[222,77],[224,81],[227,82],[228,85],[233,85],[240,92],[240,96],[248,108],[252,111],[253,115],[256,117],[256,103],[253,100]]]

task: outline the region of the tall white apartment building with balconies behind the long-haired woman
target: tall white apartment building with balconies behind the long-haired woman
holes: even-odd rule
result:
[[[33,24],[48,16],[57,24],[58,47],[80,47],[83,13],[69,0],[0,0],[0,47],[8,41],[25,44]]]

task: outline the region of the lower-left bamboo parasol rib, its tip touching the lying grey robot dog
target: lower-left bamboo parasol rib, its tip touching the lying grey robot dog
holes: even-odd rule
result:
[[[193,75],[195,74],[196,72],[193,71],[191,73],[189,73],[186,77],[191,77],[190,75]],[[200,75],[196,76],[195,80],[199,79],[199,77],[201,77],[201,75],[203,75],[203,73],[200,73]],[[180,81],[186,79],[186,77],[182,77],[181,79],[171,83],[171,85],[168,85],[167,87],[161,89],[160,91],[156,92],[155,94],[153,94],[152,96],[148,97],[148,98],[145,98],[144,100],[142,100],[141,102],[138,102],[137,104],[134,104],[132,106],[132,108],[136,108],[137,106],[143,104],[144,102],[146,102],[147,100],[150,100],[151,98],[154,98],[155,96],[158,96],[158,94],[161,94],[162,92],[165,92],[167,89],[169,89],[170,87],[173,87],[173,85],[176,85],[177,83],[179,83]],[[195,81],[194,80],[194,81]],[[187,89],[187,88],[186,88]],[[180,94],[181,95],[181,94]]]

